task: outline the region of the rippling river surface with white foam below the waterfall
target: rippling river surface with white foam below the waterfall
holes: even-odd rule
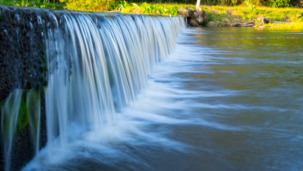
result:
[[[303,171],[302,33],[188,28],[148,84],[23,170]]]

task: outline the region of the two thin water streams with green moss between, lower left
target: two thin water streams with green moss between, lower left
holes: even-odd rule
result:
[[[40,143],[40,106],[39,90],[28,91],[15,89],[1,104],[1,139],[4,149],[4,169],[10,171],[10,158],[16,133],[29,123],[31,142],[35,153],[39,152]],[[26,141],[25,141],[26,142]],[[27,141],[28,142],[28,141]],[[27,144],[31,145],[31,144]],[[24,146],[27,146],[24,145]]]

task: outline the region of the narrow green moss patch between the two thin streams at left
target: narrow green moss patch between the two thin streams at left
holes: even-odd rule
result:
[[[20,102],[20,109],[19,109],[19,116],[18,116],[19,131],[24,129],[24,127],[28,124],[26,95],[27,95],[27,91],[23,92],[21,102]]]

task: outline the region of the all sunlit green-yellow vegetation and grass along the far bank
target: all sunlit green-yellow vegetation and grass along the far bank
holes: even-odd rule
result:
[[[0,3],[6,5],[33,6],[51,9],[69,9],[94,12],[114,10],[124,13],[168,16],[178,15],[178,8],[195,7],[195,3],[149,3],[148,1],[135,3],[134,0],[131,2],[126,0],[56,0],[53,2],[47,1],[44,3],[42,0],[0,0]],[[219,3],[218,0],[212,0],[212,2]],[[205,0],[202,0],[202,3],[205,4]],[[271,21],[288,22],[288,26],[285,24],[283,25],[283,23],[266,24],[265,26],[274,28],[303,28],[303,8],[285,7],[294,6],[294,0],[230,0],[230,3],[229,0],[225,0],[224,4],[232,4],[233,6],[201,5],[202,10],[208,16],[206,19],[204,19],[204,23],[215,21],[221,23],[222,26],[226,26],[228,23],[235,23],[240,20],[254,20],[256,21],[256,25],[258,25],[259,23],[257,18],[262,16],[270,19]],[[262,6],[264,4],[267,6]]]

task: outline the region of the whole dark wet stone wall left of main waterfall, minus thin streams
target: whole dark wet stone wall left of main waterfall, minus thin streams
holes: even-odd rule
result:
[[[37,14],[30,8],[0,5],[0,102],[15,88],[24,90],[36,88],[41,91],[40,148],[46,143],[43,92],[46,83],[45,75],[43,35]],[[1,138],[0,171],[4,170]],[[29,124],[27,124],[15,134],[10,160],[11,170],[19,171],[34,157],[34,153]]]

